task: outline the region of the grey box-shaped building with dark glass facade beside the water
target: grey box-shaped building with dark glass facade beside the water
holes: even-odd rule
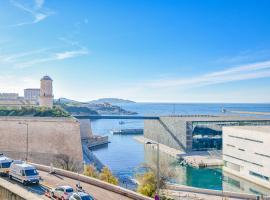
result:
[[[164,116],[144,121],[144,137],[181,151],[222,148],[223,126],[265,126],[268,118],[212,115]]]

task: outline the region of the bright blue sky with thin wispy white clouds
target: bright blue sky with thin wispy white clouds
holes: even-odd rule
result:
[[[0,0],[0,93],[270,102],[269,0]]]

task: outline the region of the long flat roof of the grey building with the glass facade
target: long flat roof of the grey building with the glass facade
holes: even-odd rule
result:
[[[162,118],[175,118],[181,121],[270,121],[270,118],[258,118],[252,116],[237,115],[174,115],[161,116]]]

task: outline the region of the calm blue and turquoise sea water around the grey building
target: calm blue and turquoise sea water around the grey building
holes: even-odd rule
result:
[[[135,111],[139,115],[170,115],[170,114],[207,114],[222,115],[222,108],[227,111],[270,112],[270,104],[166,104],[166,103],[135,103],[119,104],[122,108]],[[225,113],[232,115],[232,113]],[[262,117],[262,116],[257,116]],[[269,117],[270,116],[263,116]],[[119,122],[125,123],[120,125]],[[147,145],[134,140],[134,136],[112,135],[113,129],[143,128],[143,120],[95,120],[92,130],[97,135],[108,135],[111,143],[108,146],[94,150],[94,154],[120,179],[122,186],[135,188],[132,183],[134,176],[143,163],[151,163],[156,153]],[[173,182],[194,187],[230,190],[248,193],[270,194],[270,191],[260,188],[244,180],[231,177],[221,169],[195,169],[181,167],[175,159],[161,153],[161,161],[174,170]],[[243,187],[243,185],[245,187]],[[248,189],[247,189],[248,188]]]

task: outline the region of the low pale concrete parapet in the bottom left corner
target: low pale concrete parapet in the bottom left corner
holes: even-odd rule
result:
[[[25,189],[0,178],[1,200],[42,200]]]

